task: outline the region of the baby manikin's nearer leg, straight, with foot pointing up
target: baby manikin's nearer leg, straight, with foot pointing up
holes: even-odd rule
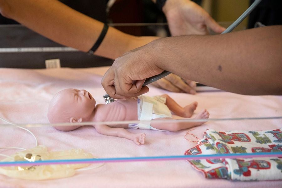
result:
[[[209,112],[206,111],[206,109],[202,110],[200,113],[197,114],[197,116],[193,119],[208,119],[209,118]],[[151,126],[157,129],[161,130],[167,130],[167,131],[179,131],[182,129],[187,129],[195,126],[199,126],[201,124],[204,124],[206,122],[179,122],[179,123],[154,123],[154,120],[151,121]]]

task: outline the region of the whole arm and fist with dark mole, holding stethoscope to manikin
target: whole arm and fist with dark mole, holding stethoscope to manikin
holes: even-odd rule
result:
[[[269,26],[157,39],[117,58],[102,85],[113,98],[138,96],[149,91],[146,78],[168,70],[234,93],[281,95],[281,33],[282,26]]]

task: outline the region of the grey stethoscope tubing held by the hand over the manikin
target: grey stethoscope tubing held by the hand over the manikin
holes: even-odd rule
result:
[[[242,21],[243,19],[245,19],[252,11],[254,8],[256,8],[256,6],[258,6],[258,4],[261,2],[262,0],[255,0],[253,2],[253,4],[251,4],[251,6],[237,19],[235,20],[235,22],[233,22],[233,24],[231,24],[225,31],[223,31],[221,34],[225,34],[225,33],[229,33],[231,32],[234,28],[236,28]],[[154,81],[157,81],[167,75],[169,75],[171,72],[169,71],[163,71],[162,73],[160,73],[159,75],[156,76],[152,76],[150,78],[147,78],[146,81],[144,82],[143,86],[146,86]],[[104,98],[109,97],[109,95],[104,95]]]

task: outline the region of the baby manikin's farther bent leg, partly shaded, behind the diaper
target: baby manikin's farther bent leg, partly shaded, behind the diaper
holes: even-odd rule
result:
[[[193,112],[196,110],[198,106],[198,102],[192,102],[191,104],[185,106],[184,108],[177,104],[170,96],[164,94],[161,95],[166,98],[166,106],[170,109],[171,112],[175,113],[177,116],[181,116],[184,118],[191,118]]]

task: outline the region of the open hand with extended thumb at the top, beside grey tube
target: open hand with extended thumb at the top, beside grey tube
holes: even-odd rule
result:
[[[172,36],[208,34],[207,28],[216,33],[225,30],[203,8],[190,0],[167,0],[163,12]]]

